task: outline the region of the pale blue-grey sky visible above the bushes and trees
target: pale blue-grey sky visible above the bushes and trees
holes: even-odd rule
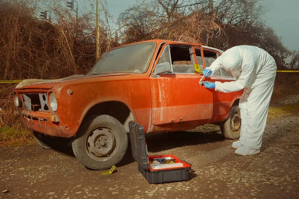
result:
[[[78,0],[81,3],[84,0]],[[110,14],[116,19],[118,14],[130,5],[142,0],[107,0]],[[299,50],[299,0],[265,0],[269,11],[265,22],[281,36],[290,50]],[[79,4],[79,6],[80,6]]]

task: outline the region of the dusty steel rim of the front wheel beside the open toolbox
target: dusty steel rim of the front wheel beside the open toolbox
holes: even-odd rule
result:
[[[110,126],[99,125],[85,136],[85,150],[95,161],[105,162],[113,158],[120,148],[120,137]]]

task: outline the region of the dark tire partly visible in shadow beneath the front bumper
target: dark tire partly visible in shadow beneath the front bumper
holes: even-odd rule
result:
[[[37,144],[44,149],[63,148],[71,142],[70,139],[64,137],[50,136],[36,131],[33,131],[32,133]]]

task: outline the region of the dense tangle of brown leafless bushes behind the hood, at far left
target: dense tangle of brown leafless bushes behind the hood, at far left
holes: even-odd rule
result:
[[[95,63],[92,14],[78,21],[66,9],[52,5],[51,22],[35,14],[27,1],[0,0],[0,80],[58,79],[86,74]],[[101,22],[100,49],[107,50]],[[110,42],[109,47],[115,47]],[[15,86],[15,85],[14,85]],[[15,125],[13,85],[0,84],[0,124]]]

